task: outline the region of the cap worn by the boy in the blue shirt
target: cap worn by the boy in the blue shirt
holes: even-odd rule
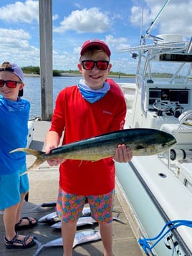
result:
[[[15,63],[11,63],[11,62],[3,62],[1,64],[0,67],[0,72],[1,71],[10,71],[13,72],[14,75],[16,75],[17,77],[19,77],[19,79],[21,80],[21,82],[24,81],[24,73],[21,70],[20,67],[18,67]],[[23,96],[24,94],[24,90],[19,90],[19,96]]]

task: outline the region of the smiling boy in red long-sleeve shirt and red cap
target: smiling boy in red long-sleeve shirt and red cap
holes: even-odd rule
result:
[[[77,65],[83,79],[78,85],[64,88],[57,96],[52,125],[46,136],[46,153],[59,145],[80,141],[123,129],[126,105],[120,87],[107,75],[110,49],[98,39],[82,45]],[[62,221],[64,256],[72,256],[77,219],[85,200],[92,217],[100,225],[104,255],[112,256],[112,201],[115,194],[115,161],[130,161],[130,148],[119,145],[113,158],[100,161],[54,159],[50,166],[59,167],[57,214]]]

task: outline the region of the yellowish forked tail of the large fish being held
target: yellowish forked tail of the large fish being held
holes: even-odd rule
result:
[[[10,151],[9,153],[14,153],[14,152],[25,152],[28,154],[31,154],[35,157],[37,157],[37,159],[34,161],[34,163],[32,164],[32,166],[29,166],[29,168],[27,169],[27,171],[24,171],[24,173],[22,173],[21,175],[26,174],[28,171],[32,171],[35,168],[37,168],[39,165],[41,165],[42,163],[44,163],[44,161],[46,161],[46,158],[44,158],[44,152],[42,151],[37,151],[35,149],[32,148],[16,148],[13,151]]]

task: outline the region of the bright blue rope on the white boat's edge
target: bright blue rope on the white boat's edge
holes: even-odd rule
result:
[[[171,232],[171,230],[176,229],[179,226],[186,226],[186,227],[192,227],[192,221],[191,220],[185,220],[185,219],[178,219],[173,220],[170,222],[167,222],[163,229],[160,231],[160,233],[156,237],[152,238],[139,238],[138,242],[141,247],[143,247],[143,251],[148,254],[148,250],[152,253],[153,247],[160,242],[160,240],[165,237],[168,232]],[[168,230],[165,230],[168,227]],[[149,245],[149,242],[157,240],[153,245]]]

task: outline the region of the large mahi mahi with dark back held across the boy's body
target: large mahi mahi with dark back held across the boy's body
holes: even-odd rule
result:
[[[150,128],[133,128],[104,133],[100,136],[87,138],[82,141],[68,143],[52,149],[49,154],[31,148],[16,148],[10,153],[24,151],[37,157],[36,161],[28,168],[33,170],[44,161],[52,158],[74,160],[98,161],[115,155],[115,148],[119,144],[128,146],[133,156],[150,156],[167,151],[176,138],[171,134]]]

